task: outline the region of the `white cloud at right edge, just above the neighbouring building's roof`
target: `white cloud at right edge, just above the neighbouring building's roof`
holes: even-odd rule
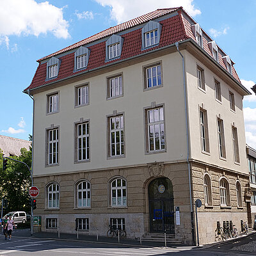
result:
[[[244,108],[246,143],[256,148],[256,108]]]

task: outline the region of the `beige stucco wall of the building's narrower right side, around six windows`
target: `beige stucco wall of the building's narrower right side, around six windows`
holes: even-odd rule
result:
[[[196,60],[189,52],[183,51],[186,59],[186,78],[188,83],[188,112],[189,112],[189,134],[191,138],[191,158],[205,163],[221,166],[228,170],[248,173],[246,161],[246,141],[244,134],[243,118],[243,97],[234,88],[225,83],[214,74],[209,68],[205,67],[200,61]],[[196,65],[204,68],[205,92],[197,86]],[[215,99],[214,79],[221,84],[221,103]],[[229,90],[234,93],[236,111],[230,110]],[[209,148],[210,154],[203,154],[200,145],[200,106],[207,111],[209,129]],[[217,137],[217,116],[223,120],[225,132],[226,159],[220,159]],[[232,124],[237,127],[239,158],[240,163],[234,163],[232,145]]]

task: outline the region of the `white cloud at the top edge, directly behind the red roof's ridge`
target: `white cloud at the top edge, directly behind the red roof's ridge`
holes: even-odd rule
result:
[[[95,0],[102,6],[110,6],[111,19],[116,20],[118,24],[127,20],[136,18],[148,12],[159,8],[171,8],[183,6],[191,16],[200,14],[200,10],[192,4],[193,0]]]

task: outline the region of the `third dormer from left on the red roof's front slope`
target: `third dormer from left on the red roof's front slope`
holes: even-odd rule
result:
[[[106,41],[106,60],[115,60],[120,58],[122,53],[122,46],[124,43],[124,38],[118,35],[112,35]]]

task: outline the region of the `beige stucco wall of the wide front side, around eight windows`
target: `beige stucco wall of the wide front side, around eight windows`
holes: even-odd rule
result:
[[[163,87],[143,92],[143,66],[162,61]],[[177,52],[35,94],[34,175],[97,170],[186,159],[181,60]],[[106,100],[106,77],[123,72],[124,97]],[[74,108],[75,86],[90,83],[90,104]],[[47,94],[59,91],[60,112],[46,115]],[[145,154],[143,108],[164,104],[166,152]],[[124,112],[125,157],[107,159],[106,116]],[[90,119],[90,162],[74,164],[74,122]],[[45,129],[60,126],[60,165],[45,168]]]

